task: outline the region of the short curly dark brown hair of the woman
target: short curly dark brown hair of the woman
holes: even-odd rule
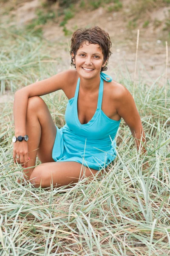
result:
[[[100,48],[102,49],[102,53],[104,55],[103,63],[106,62],[108,64],[108,59],[111,56],[111,39],[109,37],[108,32],[101,29],[99,26],[94,26],[89,29],[77,29],[71,38],[71,65],[75,66],[74,64],[74,56],[77,54],[77,50],[82,45],[83,42],[88,41],[90,44],[99,44]],[[74,56],[72,56],[72,54]],[[107,70],[106,67],[101,68],[101,72]]]

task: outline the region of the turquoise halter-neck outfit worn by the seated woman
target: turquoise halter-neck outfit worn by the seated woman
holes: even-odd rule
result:
[[[114,138],[121,120],[110,119],[102,111],[103,79],[107,82],[112,81],[110,76],[100,73],[97,109],[86,124],[79,122],[77,113],[80,83],[78,79],[75,95],[68,100],[65,110],[66,124],[61,129],[57,127],[52,151],[54,161],[75,161],[100,170],[107,167],[116,157]]]

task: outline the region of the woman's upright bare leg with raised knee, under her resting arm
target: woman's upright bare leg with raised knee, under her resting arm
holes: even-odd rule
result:
[[[56,137],[56,126],[47,105],[38,96],[28,99],[26,113],[26,134],[28,134],[28,167],[35,166],[36,156],[42,163],[53,162],[52,149]],[[28,178],[34,167],[24,169]]]

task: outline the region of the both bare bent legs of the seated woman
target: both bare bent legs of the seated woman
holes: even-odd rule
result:
[[[52,149],[56,137],[56,126],[51,118],[45,102],[38,96],[28,100],[26,115],[26,133],[28,134],[28,167],[24,172],[34,186],[46,188],[51,186],[64,186],[78,182],[79,178],[96,175],[97,171],[89,170],[77,162],[54,162]],[[36,156],[42,164],[35,166]],[[101,175],[101,172],[98,173]]]

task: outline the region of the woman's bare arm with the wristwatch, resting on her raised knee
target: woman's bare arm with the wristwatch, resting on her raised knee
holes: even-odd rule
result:
[[[68,87],[68,81],[75,76],[74,70],[67,70],[59,73],[51,78],[37,81],[34,84],[30,84],[22,89],[18,90],[14,96],[14,125],[15,125],[15,136],[26,135],[26,111],[28,105],[28,99],[33,96],[42,96],[48,93],[52,93],[56,90],[65,91],[65,87]],[[24,162],[28,161],[28,143],[26,141],[14,143],[13,157],[15,160],[16,155],[25,158]],[[25,157],[23,157],[25,156]],[[27,167],[27,164],[23,164]]]

